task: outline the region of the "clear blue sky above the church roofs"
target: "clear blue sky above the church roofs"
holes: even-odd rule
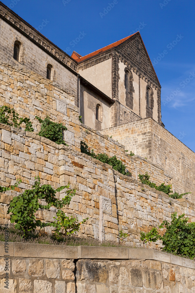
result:
[[[140,27],[162,86],[165,128],[195,151],[194,0],[2,2],[70,55],[75,50],[84,56]]]

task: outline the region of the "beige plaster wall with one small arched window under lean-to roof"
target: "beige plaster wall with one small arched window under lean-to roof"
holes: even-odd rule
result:
[[[100,105],[100,120],[96,119],[96,105]],[[82,85],[80,87],[80,114],[82,122],[93,129],[101,130],[110,127],[110,104]]]

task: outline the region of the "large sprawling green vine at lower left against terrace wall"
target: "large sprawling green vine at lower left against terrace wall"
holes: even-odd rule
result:
[[[75,189],[70,189],[69,184],[54,189],[49,184],[40,185],[39,177],[35,177],[35,179],[32,189],[25,190],[22,194],[13,197],[8,208],[8,213],[11,213],[11,223],[15,223],[15,228],[23,231],[25,235],[28,231],[35,231],[37,227],[51,226],[52,223],[44,223],[36,219],[35,213],[38,209],[49,209],[53,206],[59,210],[70,203],[76,192]],[[4,187],[2,188],[4,189]],[[63,189],[66,189],[66,195],[62,200],[58,200],[56,193]],[[41,203],[42,200],[45,201],[45,204]]]

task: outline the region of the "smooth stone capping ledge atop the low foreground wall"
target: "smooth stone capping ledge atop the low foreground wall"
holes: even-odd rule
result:
[[[66,259],[143,259],[195,269],[195,261],[170,253],[146,248],[105,246],[61,246],[49,244],[8,242],[9,257]],[[0,241],[0,257],[4,257],[4,242]]]

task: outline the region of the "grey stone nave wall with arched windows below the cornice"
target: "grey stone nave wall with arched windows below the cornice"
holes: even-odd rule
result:
[[[14,42],[21,42],[22,63],[13,59]],[[31,70],[46,78],[47,64],[53,66],[55,72],[54,81],[65,88],[72,96],[75,97],[75,105],[77,105],[77,77],[65,68],[60,62],[47,54],[42,48],[34,44],[26,38],[20,31],[11,27],[7,22],[1,20],[0,30],[0,59],[1,62],[19,66],[24,70]]]

